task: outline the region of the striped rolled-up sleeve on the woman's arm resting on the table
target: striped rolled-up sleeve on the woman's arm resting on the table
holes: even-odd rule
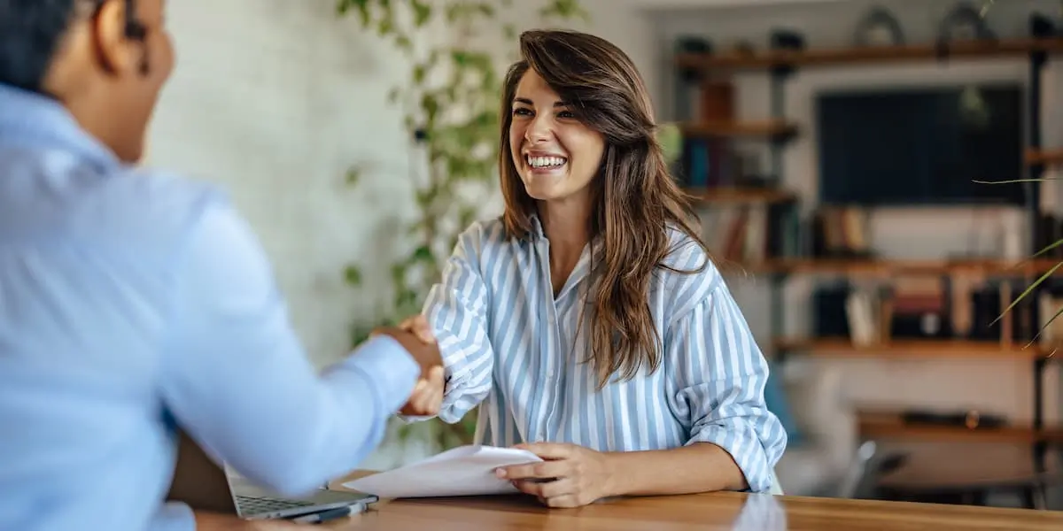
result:
[[[764,402],[767,362],[722,281],[672,325],[665,349],[676,384],[672,407],[689,423],[687,444],[720,446],[750,491],[769,492],[787,434]]]

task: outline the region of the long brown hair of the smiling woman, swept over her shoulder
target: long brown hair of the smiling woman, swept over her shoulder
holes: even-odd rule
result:
[[[656,371],[661,363],[662,339],[649,312],[649,282],[665,264],[670,230],[686,233],[705,251],[694,228],[696,219],[687,196],[669,172],[657,142],[653,104],[634,63],[609,41],[574,31],[528,31],[520,37],[521,61],[504,82],[502,144],[499,169],[510,237],[532,228],[536,201],[527,194],[509,148],[510,107],[517,85],[535,70],[568,102],[570,110],[605,137],[598,174],[591,182],[593,204],[589,232],[601,236],[604,253],[592,264],[594,295],[591,308],[591,350],[598,389],[614,373],[634,377],[642,363]],[[593,255],[592,255],[593,256]]]

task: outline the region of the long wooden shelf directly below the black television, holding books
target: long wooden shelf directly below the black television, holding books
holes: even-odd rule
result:
[[[1026,261],[969,259],[969,260],[859,260],[859,259],[777,259],[758,264],[742,266],[756,273],[787,274],[842,274],[894,276],[902,274],[941,275],[1015,275],[1032,276],[1048,272],[1060,261],[1036,259]],[[1057,270],[1063,275],[1063,267]]]

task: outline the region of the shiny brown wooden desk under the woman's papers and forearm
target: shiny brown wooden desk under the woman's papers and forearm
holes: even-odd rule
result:
[[[384,500],[370,512],[328,529],[1059,531],[1063,529],[1063,512],[737,493],[625,498],[578,509],[547,509],[525,496],[486,496]]]

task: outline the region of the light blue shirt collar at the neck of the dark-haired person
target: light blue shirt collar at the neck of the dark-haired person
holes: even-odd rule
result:
[[[120,164],[58,101],[0,83],[0,143],[71,151],[101,167]]]

